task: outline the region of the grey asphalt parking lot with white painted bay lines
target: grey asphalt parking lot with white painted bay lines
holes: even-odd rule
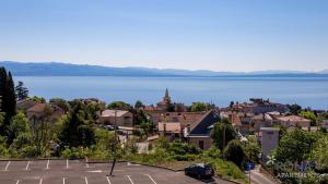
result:
[[[206,183],[184,172],[119,162],[114,176],[112,163],[82,160],[0,161],[0,184],[198,184]],[[212,183],[229,183],[216,181]]]

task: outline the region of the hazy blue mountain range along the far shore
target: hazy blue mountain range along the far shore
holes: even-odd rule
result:
[[[258,71],[258,72],[214,72],[214,71],[188,71],[174,69],[149,68],[112,68],[101,65],[68,64],[59,62],[23,63],[14,61],[0,61],[15,76],[266,76],[266,77],[301,77],[301,76],[328,76],[328,70],[311,73],[298,71]]]

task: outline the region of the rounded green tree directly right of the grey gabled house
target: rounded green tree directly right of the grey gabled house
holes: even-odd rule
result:
[[[211,137],[215,146],[222,150],[230,140],[236,138],[236,132],[229,119],[222,119],[221,122],[214,124]]]

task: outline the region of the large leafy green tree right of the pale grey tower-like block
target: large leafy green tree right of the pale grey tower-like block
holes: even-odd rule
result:
[[[276,159],[279,162],[301,162],[307,159],[318,136],[314,133],[295,130],[281,138],[276,148]]]

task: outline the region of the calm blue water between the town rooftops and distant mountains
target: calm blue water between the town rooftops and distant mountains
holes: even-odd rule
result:
[[[155,105],[165,88],[175,102],[248,101],[251,97],[302,107],[328,109],[328,77],[121,77],[121,76],[15,76],[31,96],[46,99],[95,97],[106,102],[141,100]]]

